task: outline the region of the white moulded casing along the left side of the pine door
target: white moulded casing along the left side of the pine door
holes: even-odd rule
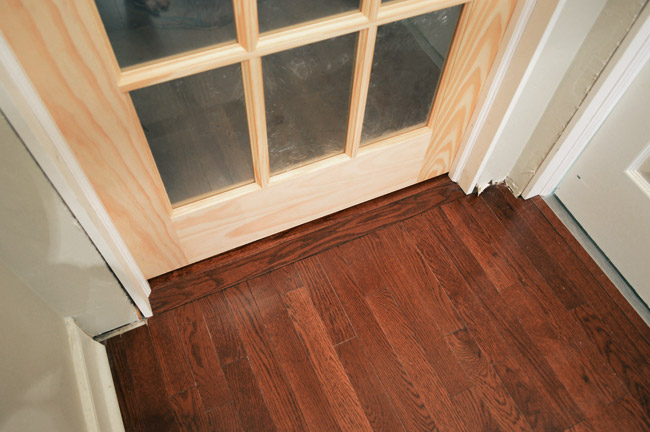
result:
[[[0,109],[144,316],[151,288],[0,32]]]

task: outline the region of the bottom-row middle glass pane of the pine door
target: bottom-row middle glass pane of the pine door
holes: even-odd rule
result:
[[[262,59],[271,173],[345,147],[356,34]]]

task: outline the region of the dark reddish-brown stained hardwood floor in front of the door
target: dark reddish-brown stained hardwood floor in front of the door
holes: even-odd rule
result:
[[[544,202],[431,196],[161,279],[185,291],[107,341],[126,429],[650,430],[650,329]]]

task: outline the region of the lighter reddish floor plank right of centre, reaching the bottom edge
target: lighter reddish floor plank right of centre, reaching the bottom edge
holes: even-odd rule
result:
[[[386,288],[375,291],[366,296],[366,301],[404,369],[413,378],[415,387],[423,395],[425,405],[432,414],[437,429],[467,430],[440,378],[426,360],[424,349],[418,343],[391,292]]]

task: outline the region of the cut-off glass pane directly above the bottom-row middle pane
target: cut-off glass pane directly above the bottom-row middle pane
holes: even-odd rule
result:
[[[359,0],[257,0],[260,33],[358,9]]]

